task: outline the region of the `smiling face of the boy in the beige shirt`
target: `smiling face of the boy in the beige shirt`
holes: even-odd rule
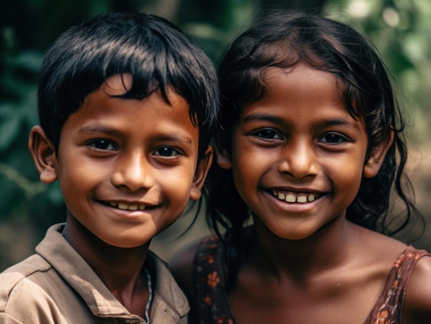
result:
[[[143,100],[112,98],[131,83],[113,76],[89,94],[65,122],[52,166],[39,168],[41,180],[59,180],[68,218],[123,248],[145,244],[200,198],[212,156],[209,149],[196,169],[198,126],[184,98],[172,89],[171,105],[160,91]]]

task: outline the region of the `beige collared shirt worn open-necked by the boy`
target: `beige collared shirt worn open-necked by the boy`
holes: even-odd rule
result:
[[[36,254],[0,274],[1,324],[147,323],[130,314],[90,266],[52,226]],[[154,296],[151,324],[184,323],[189,304],[176,281],[154,253],[151,264]]]

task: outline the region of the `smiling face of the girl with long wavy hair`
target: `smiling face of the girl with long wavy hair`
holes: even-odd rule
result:
[[[231,156],[218,162],[233,169],[254,217],[279,237],[304,239],[344,217],[363,174],[375,175],[366,171],[364,120],[350,116],[328,72],[269,67],[264,83],[233,128]]]

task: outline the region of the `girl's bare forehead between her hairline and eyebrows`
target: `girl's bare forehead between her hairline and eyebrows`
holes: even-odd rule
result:
[[[335,74],[304,64],[269,67],[262,81],[262,96],[242,107],[240,123],[262,119],[313,127],[364,123],[346,107],[344,87]]]

